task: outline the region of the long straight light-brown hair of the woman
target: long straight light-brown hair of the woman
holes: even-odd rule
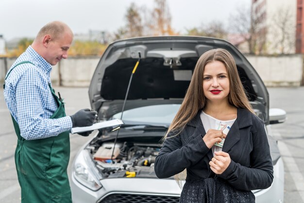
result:
[[[198,111],[204,108],[206,98],[203,93],[203,71],[208,63],[214,61],[222,62],[227,68],[230,84],[228,102],[237,108],[247,109],[254,114],[253,108],[246,96],[245,89],[238,76],[236,62],[232,55],[224,49],[206,51],[196,63],[184,101],[173,118],[167,134],[164,136],[164,140],[170,132],[174,132],[175,135],[179,135],[184,130],[186,124],[195,117]],[[180,180],[186,178],[186,169],[175,175],[174,178],[181,186]]]

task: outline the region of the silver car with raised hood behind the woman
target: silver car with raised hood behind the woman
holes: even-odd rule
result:
[[[179,202],[181,187],[172,177],[158,179],[154,160],[198,58],[215,48],[234,56],[248,98],[268,132],[274,179],[269,188],[253,191],[256,202],[283,202],[284,165],[270,124],[284,122],[285,111],[269,109],[265,85],[230,43],[164,36],[117,41],[102,55],[89,87],[91,107],[99,121],[121,118],[124,124],[98,130],[80,149],[71,174],[74,203]]]

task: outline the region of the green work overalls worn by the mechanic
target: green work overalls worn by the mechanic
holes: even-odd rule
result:
[[[23,63],[31,62],[21,62],[16,66]],[[64,103],[55,95],[50,84],[49,87],[58,105],[58,109],[50,118],[65,117]],[[21,186],[21,202],[71,203],[67,173],[69,132],[44,139],[26,140],[20,136],[19,125],[13,116],[12,119],[18,137],[15,163]]]

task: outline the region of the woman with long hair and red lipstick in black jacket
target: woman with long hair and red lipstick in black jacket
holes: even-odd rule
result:
[[[226,50],[199,58],[164,140],[155,173],[168,178],[186,169],[180,203],[254,202],[251,190],[272,183],[264,122],[254,114]]]

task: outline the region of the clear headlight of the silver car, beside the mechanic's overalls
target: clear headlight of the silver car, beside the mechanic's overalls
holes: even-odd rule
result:
[[[100,189],[102,178],[87,150],[82,150],[75,159],[73,167],[75,179],[91,190]]]

